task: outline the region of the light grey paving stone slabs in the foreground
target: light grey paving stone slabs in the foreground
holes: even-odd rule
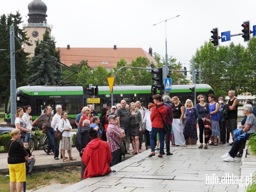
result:
[[[220,158],[230,148],[227,144],[209,146],[208,149],[198,149],[198,145],[172,147],[173,155],[164,155],[163,158],[157,157],[157,154],[148,157],[151,151],[147,150],[111,167],[116,170],[115,173],[88,178],[59,191],[236,192],[240,188],[238,184],[228,184],[225,178],[240,175],[241,158],[236,158],[235,162],[225,162]]]

